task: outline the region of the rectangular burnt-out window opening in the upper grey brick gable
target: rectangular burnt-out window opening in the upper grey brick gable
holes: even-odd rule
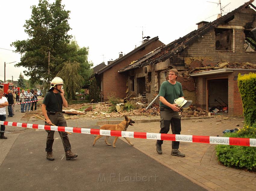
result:
[[[233,29],[215,28],[215,50],[233,50]]]

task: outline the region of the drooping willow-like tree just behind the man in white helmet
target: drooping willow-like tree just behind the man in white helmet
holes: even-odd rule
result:
[[[67,61],[57,74],[64,81],[64,91],[67,95],[67,100],[75,99],[76,92],[79,92],[80,86],[83,85],[84,79],[79,74],[79,71],[80,64],[78,62]]]

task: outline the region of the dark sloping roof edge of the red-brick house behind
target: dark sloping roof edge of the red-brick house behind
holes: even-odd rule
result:
[[[108,64],[107,66],[105,66],[104,68],[102,68],[101,70],[98,70],[97,72],[95,72],[96,74],[101,74],[103,72],[105,72],[106,70],[108,70],[109,68],[113,67],[114,65],[116,65],[117,63],[119,63],[120,61],[124,60],[125,58],[127,58],[128,56],[132,55],[133,53],[139,51],[140,49],[142,49],[143,47],[147,46],[148,44],[150,44],[151,42],[158,40],[158,36],[151,38],[150,40],[148,40],[147,42],[143,43],[142,45],[138,46],[136,49],[132,50],[131,52],[127,53],[126,55],[122,56],[121,58],[117,58],[116,60],[114,60],[111,64]]]

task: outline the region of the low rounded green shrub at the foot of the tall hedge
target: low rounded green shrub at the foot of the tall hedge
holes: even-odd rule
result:
[[[245,125],[244,128],[236,133],[225,133],[225,137],[244,137],[256,138],[256,124],[253,126]],[[217,145],[216,154],[218,160],[228,167],[236,167],[256,171],[256,148],[235,146],[235,145]]]

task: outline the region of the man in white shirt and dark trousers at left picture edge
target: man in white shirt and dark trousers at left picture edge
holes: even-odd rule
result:
[[[3,96],[4,91],[3,89],[0,89],[0,121],[5,121],[6,120],[6,111],[5,107],[8,106],[8,101],[7,98]],[[1,125],[0,129],[0,139],[7,139],[4,135],[5,133],[5,125]]]

